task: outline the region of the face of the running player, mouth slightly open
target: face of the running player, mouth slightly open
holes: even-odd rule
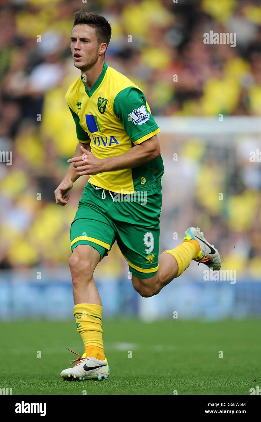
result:
[[[75,68],[82,71],[90,69],[99,57],[95,29],[86,24],[76,25],[71,32],[71,51]]]

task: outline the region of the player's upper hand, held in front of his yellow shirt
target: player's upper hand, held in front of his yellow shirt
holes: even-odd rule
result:
[[[73,162],[73,167],[75,168],[75,171],[77,172],[78,176],[83,175],[94,175],[98,173],[102,173],[103,170],[103,160],[100,160],[99,158],[95,157],[94,154],[92,154],[87,149],[83,148],[81,146],[81,151],[83,155],[81,157],[73,157],[70,158],[67,162]]]

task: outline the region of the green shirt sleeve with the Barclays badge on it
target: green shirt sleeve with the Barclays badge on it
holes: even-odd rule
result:
[[[146,123],[135,124],[130,115],[134,110],[145,106],[145,111],[150,115]],[[120,119],[127,135],[132,142],[145,137],[156,129],[159,129],[153,116],[147,108],[146,98],[143,92],[136,87],[122,89],[114,98],[113,112]],[[145,140],[145,139],[144,139]]]

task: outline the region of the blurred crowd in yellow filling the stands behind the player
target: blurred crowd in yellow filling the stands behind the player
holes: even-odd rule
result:
[[[70,222],[87,178],[76,182],[65,207],[55,204],[54,190],[77,143],[65,93],[79,76],[70,31],[81,8],[108,19],[105,60],[143,89],[153,115],[261,116],[258,1],[2,0],[0,151],[12,151],[12,165],[0,163],[0,269],[52,268],[70,256]],[[236,46],[204,44],[210,31],[236,33]],[[261,173],[248,150],[260,138],[230,141],[161,134],[161,249],[173,241],[169,227],[199,225],[219,242],[224,265],[259,276]],[[103,265],[121,273],[119,256],[114,247]]]

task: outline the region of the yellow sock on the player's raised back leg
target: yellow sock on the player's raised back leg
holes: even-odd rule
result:
[[[183,241],[183,243],[179,246],[176,246],[174,249],[170,249],[169,251],[164,251],[163,253],[167,253],[172,255],[175,258],[178,264],[178,274],[183,273],[186,268],[189,267],[192,260],[194,260],[200,252],[200,246],[198,241],[195,239],[189,241]]]

